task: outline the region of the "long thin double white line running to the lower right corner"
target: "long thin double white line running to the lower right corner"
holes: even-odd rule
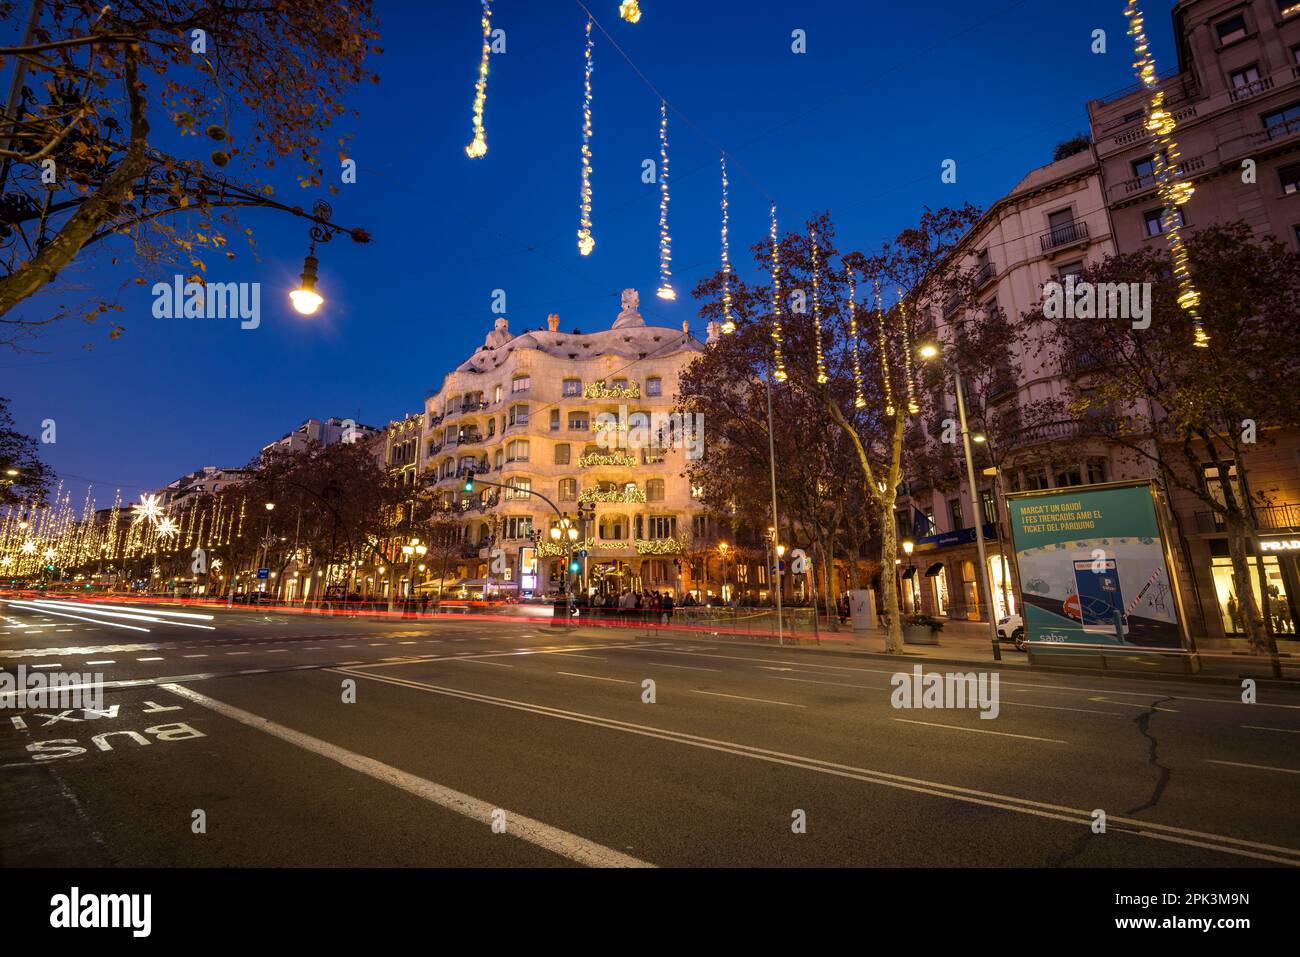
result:
[[[566,711],[558,707],[551,707],[549,705],[538,705],[532,701],[519,701],[516,698],[500,698],[491,694],[480,694],[477,692],[465,692],[456,688],[446,688],[441,685],[425,684],[422,681],[411,681],[403,677],[393,677],[391,675],[377,675],[361,668],[344,667],[344,668],[329,668],[329,671],[333,671],[339,675],[368,677],[372,681],[384,681],[386,684],[398,685],[400,688],[410,688],[412,690],[424,692],[426,694],[441,694],[450,698],[476,701],[478,703],[491,705],[494,707],[504,707],[514,711],[526,711],[529,714],[537,714],[546,718],[575,722],[577,724],[589,724],[593,727],[604,728],[607,731],[620,731],[628,735],[653,737],[662,741],[670,741],[672,744],[680,744],[690,748],[701,748],[705,750],[736,754],[740,757],[751,758],[754,761],[763,761],[772,765],[784,765],[786,767],[794,767],[803,771],[814,771],[818,774],[832,775],[836,778],[848,778],[850,780],[858,780],[866,784],[876,784],[880,787],[896,788],[898,791],[909,791],[918,794],[942,797],[950,801],[959,801],[962,804],[994,807],[997,810],[1011,811],[1015,814],[1027,814],[1030,817],[1045,818],[1049,820],[1060,820],[1079,827],[1091,828],[1093,823],[1091,810],[1084,810],[1080,807],[1070,807],[1067,805],[1049,804],[1046,801],[1034,801],[1026,797],[1000,794],[997,792],[991,792],[991,791],[978,791],[975,788],[965,788],[957,784],[944,784],[941,781],[931,781],[923,778],[909,778],[889,771],[878,771],[874,768],[854,767],[852,765],[838,765],[831,761],[824,761],[822,758],[811,758],[801,754],[789,754],[786,752],[775,752],[775,750],[768,750],[766,748],[755,748],[753,745],[738,744],[736,741],[723,741],[714,737],[689,735],[681,731],[668,731],[666,728],[656,728],[649,724],[634,724],[632,722],[618,720],[615,718],[603,718],[601,715],[586,714],[582,711]],[[1193,848],[1205,848],[1209,850],[1217,850],[1223,854],[1232,854],[1235,857],[1247,857],[1258,861],[1269,861],[1271,863],[1282,863],[1291,867],[1300,866],[1300,849],[1296,848],[1286,848],[1277,844],[1251,841],[1243,837],[1230,837],[1227,835],[1212,833],[1208,831],[1192,831],[1184,827],[1175,827],[1173,824],[1157,824],[1154,822],[1139,820],[1136,818],[1124,818],[1117,814],[1108,815],[1106,822],[1108,824],[1123,826],[1123,827],[1112,827],[1110,831],[1113,833],[1124,833],[1124,835],[1131,835],[1134,837],[1145,837],[1148,840],[1166,841],[1170,844],[1183,844]]]

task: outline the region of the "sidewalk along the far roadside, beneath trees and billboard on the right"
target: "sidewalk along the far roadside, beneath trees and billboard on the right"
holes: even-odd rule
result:
[[[1114,645],[1048,645],[1017,651],[1015,646],[1004,641],[1000,644],[1002,659],[994,662],[992,636],[987,622],[948,622],[935,645],[904,645],[902,654],[885,654],[885,632],[879,628],[853,632],[848,628],[827,631],[818,635],[809,629],[786,631],[777,641],[776,635],[751,631],[731,631],[724,623],[668,625],[637,623],[580,624],[577,631],[592,637],[634,633],[637,637],[672,637],[693,641],[716,641],[728,645],[757,648],[783,648],[796,653],[823,653],[832,655],[853,655],[878,661],[907,662],[924,664],[962,664],[998,670],[1018,668],[1034,671],[1061,671],[1069,674],[1095,674],[1112,677],[1153,677],[1201,680],[1214,684],[1239,685],[1242,679],[1251,677],[1261,685],[1300,688],[1300,648],[1279,648],[1278,668],[1282,680],[1274,671],[1273,662],[1265,657],[1251,654],[1244,640],[1201,640],[1197,654],[1186,651],[1149,651],[1123,649]]]

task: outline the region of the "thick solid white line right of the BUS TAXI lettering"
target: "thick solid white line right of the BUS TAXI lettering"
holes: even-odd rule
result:
[[[425,778],[417,778],[413,774],[393,767],[391,765],[385,765],[374,758],[368,758],[364,754],[350,752],[346,748],[339,748],[329,741],[321,741],[317,737],[304,735],[300,731],[294,731],[292,728],[277,724],[272,720],[251,714],[250,711],[216,701],[205,694],[199,694],[190,688],[183,688],[176,684],[165,684],[161,687],[173,694],[185,698],[186,701],[202,705],[203,707],[216,711],[225,718],[230,718],[240,724],[264,731],[268,735],[273,735],[274,737],[287,741],[289,744],[302,748],[303,750],[312,752],[313,754],[328,758],[329,761],[342,765],[352,771],[359,771],[360,774],[378,781],[400,788],[410,794],[415,794],[416,797],[424,798],[425,801],[436,804],[439,807],[446,807],[450,811],[462,814],[471,820],[477,820],[481,824],[491,826],[494,813],[504,810],[490,801],[482,801],[477,797],[465,794],[464,792],[452,791],[442,784],[436,784]],[[595,841],[589,841],[576,833],[562,831],[558,827],[543,824],[540,820],[525,818],[523,814],[516,814],[510,810],[506,811],[506,833],[528,841],[529,844],[545,850],[550,850],[552,854],[559,854],[560,857],[589,867],[654,866],[646,861],[641,861],[636,857],[619,853],[612,848],[597,844]]]

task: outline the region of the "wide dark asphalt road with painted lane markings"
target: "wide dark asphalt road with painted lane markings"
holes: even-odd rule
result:
[[[913,661],[177,610],[0,602],[0,670],[104,681],[0,710],[0,865],[1300,865],[1290,692],[1009,668],[984,719]]]

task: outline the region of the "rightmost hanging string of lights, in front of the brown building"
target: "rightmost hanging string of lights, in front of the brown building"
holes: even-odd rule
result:
[[[1176,122],[1174,114],[1165,107],[1165,91],[1160,88],[1160,78],[1156,74],[1156,57],[1152,56],[1150,44],[1147,40],[1144,18],[1138,9],[1138,0],[1128,0],[1124,8],[1124,17],[1128,18],[1128,35],[1134,38],[1134,69],[1143,87],[1150,92],[1150,103],[1147,104],[1147,130],[1156,143],[1156,155],[1152,159],[1154,168],[1156,186],[1160,198],[1165,202],[1161,220],[1165,228],[1165,237],[1169,242],[1169,255],[1174,263],[1174,277],[1178,280],[1178,307],[1192,320],[1192,345],[1199,348],[1208,348],[1210,337],[1201,322],[1199,306],[1201,294],[1192,282],[1192,270],[1188,264],[1187,244],[1183,242],[1183,209],[1192,198],[1195,187],[1182,178],[1179,166],[1178,142],[1174,139]]]

